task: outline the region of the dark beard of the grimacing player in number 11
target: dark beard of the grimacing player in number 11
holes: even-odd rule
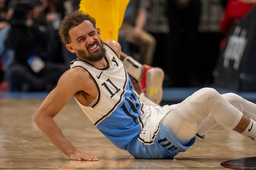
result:
[[[102,41],[100,43],[98,42],[94,42],[94,44],[98,44],[98,46],[100,47],[98,51],[94,52],[94,54],[90,53],[89,47],[87,48],[87,51],[89,53],[89,55],[87,56],[84,50],[79,50],[77,49],[77,56],[81,59],[84,59],[85,61],[89,61],[89,62],[97,62],[100,61],[101,59],[103,59],[106,56],[106,49],[103,48],[103,44]],[[91,45],[91,46],[93,46]]]

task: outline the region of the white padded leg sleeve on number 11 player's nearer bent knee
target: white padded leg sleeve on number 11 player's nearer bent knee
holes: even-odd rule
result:
[[[198,131],[209,113],[219,124],[233,129],[243,113],[231,105],[213,88],[202,88],[173,108],[163,119],[171,133],[178,139],[189,141]]]

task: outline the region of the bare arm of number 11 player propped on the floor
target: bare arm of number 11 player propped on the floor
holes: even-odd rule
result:
[[[72,71],[71,71],[72,70]],[[58,85],[44,99],[44,102],[38,108],[34,117],[34,122],[38,128],[48,137],[48,139],[58,147],[61,152],[66,154],[72,160],[98,161],[99,158],[89,153],[78,151],[62,134],[54,117],[61,111],[64,105],[70,101],[76,91],[83,90],[81,84],[76,80],[72,72],[76,69],[66,71],[58,81]]]

